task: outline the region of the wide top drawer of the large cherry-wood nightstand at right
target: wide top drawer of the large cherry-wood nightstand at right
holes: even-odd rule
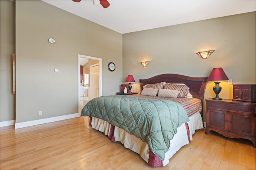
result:
[[[250,104],[247,105],[242,103],[207,102],[207,107],[211,107],[214,109],[224,109],[224,110],[231,110],[231,111],[256,113],[255,105],[250,105]]]

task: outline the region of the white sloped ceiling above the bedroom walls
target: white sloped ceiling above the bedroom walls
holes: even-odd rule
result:
[[[42,0],[121,34],[256,11],[256,0]]]

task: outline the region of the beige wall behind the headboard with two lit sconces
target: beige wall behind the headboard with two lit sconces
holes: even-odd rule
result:
[[[206,60],[196,54],[206,50],[216,51]],[[142,61],[150,61],[148,67]],[[132,74],[134,92],[139,79],[163,73],[208,77],[215,67],[233,84],[256,84],[256,12],[123,34],[123,82]],[[204,99],[215,96],[213,86],[208,82]],[[232,99],[233,86],[220,86],[220,97]]]

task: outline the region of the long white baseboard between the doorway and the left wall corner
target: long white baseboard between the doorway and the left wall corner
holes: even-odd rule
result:
[[[70,115],[49,117],[49,118],[46,118],[46,119],[38,119],[38,120],[34,120],[34,121],[15,123],[15,129],[16,128],[23,128],[23,127],[30,127],[30,126],[34,126],[34,125],[40,125],[40,124],[44,124],[44,123],[62,121],[62,120],[66,120],[66,119],[72,119],[72,118],[75,118],[75,117],[80,117],[80,114],[79,113],[74,113],[74,114],[70,114]]]

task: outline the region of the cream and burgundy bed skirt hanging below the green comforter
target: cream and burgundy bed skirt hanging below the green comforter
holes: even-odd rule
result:
[[[95,117],[90,118],[90,126],[100,132],[104,132],[108,135],[110,140],[113,142],[122,142],[124,147],[140,154],[140,157],[145,160],[150,166],[166,166],[169,163],[169,159],[184,145],[192,140],[192,134],[195,130],[204,128],[202,124],[202,117],[200,113],[196,113],[189,117],[188,123],[182,124],[177,129],[177,133],[174,134],[172,140],[170,140],[170,148],[164,156],[162,161],[158,156],[149,150],[148,144],[143,142],[140,138],[129,134],[125,130],[114,127],[108,122],[103,121]]]

